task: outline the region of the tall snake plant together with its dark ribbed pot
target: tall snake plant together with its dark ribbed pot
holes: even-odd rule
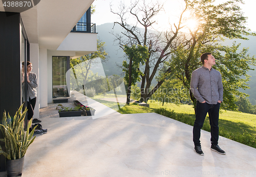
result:
[[[6,158],[8,176],[22,175],[26,151],[35,139],[33,134],[36,127],[29,134],[32,119],[29,121],[27,132],[24,130],[27,108],[21,113],[22,108],[23,105],[19,107],[14,117],[11,117],[9,114],[7,116],[6,112],[4,112],[2,124],[0,124],[0,129],[4,137],[0,141],[5,143],[4,147],[0,146],[0,155],[3,154]]]

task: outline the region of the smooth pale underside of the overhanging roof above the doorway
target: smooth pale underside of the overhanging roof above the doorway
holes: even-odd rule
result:
[[[56,50],[94,0],[41,0],[21,13],[30,43]],[[0,3],[0,11],[5,11]]]

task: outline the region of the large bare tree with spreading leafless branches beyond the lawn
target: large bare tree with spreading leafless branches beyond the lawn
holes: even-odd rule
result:
[[[178,33],[184,27],[182,26],[182,17],[186,9],[187,5],[180,14],[178,23],[174,24],[173,29],[164,33],[154,30],[154,24],[157,24],[155,19],[159,12],[163,10],[163,4],[159,2],[148,3],[146,0],[137,0],[131,3],[129,7],[121,3],[118,12],[114,12],[111,9],[111,12],[119,17],[119,21],[114,22],[114,26],[118,24],[125,30],[122,34],[113,33],[115,41],[118,42],[120,48],[124,49],[124,45],[132,46],[137,44],[148,47],[148,53],[150,55],[148,55],[145,65],[138,67],[138,70],[142,70],[142,74],[140,75],[140,102],[147,102],[164,82],[164,79],[162,79],[153,89],[150,89],[160,65],[163,64],[172,53],[170,46],[172,43],[176,43],[180,38],[178,37]],[[131,17],[135,19],[135,24],[127,23],[127,20]],[[168,68],[165,71],[165,75],[170,73],[170,71],[171,68]]]

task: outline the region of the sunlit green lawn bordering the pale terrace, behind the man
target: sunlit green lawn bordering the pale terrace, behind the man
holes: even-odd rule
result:
[[[194,125],[195,121],[195,113],[191,105],[177,106],[175,104],[165,103],[164,106],[162,106],[162,103],[149,101],[148,104],[150,104],[150,108],[142,107],[137,104],[120,104],[121,109],[119,109],[115,102],[103,101],[101,99],[95,100],[121,114],[156,112],[190,125]],[[222,110],[220,113],[219,128],[220,136],[256,148],[256,115]],[[208,116],[205,119],[202,129],[208,132],[210,131]]]

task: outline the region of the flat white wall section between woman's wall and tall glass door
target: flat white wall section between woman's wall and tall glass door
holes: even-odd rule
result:
[[[47,65],[47,49],[39,48],[39,102],[40,108],[48,106],[48,65]]]

